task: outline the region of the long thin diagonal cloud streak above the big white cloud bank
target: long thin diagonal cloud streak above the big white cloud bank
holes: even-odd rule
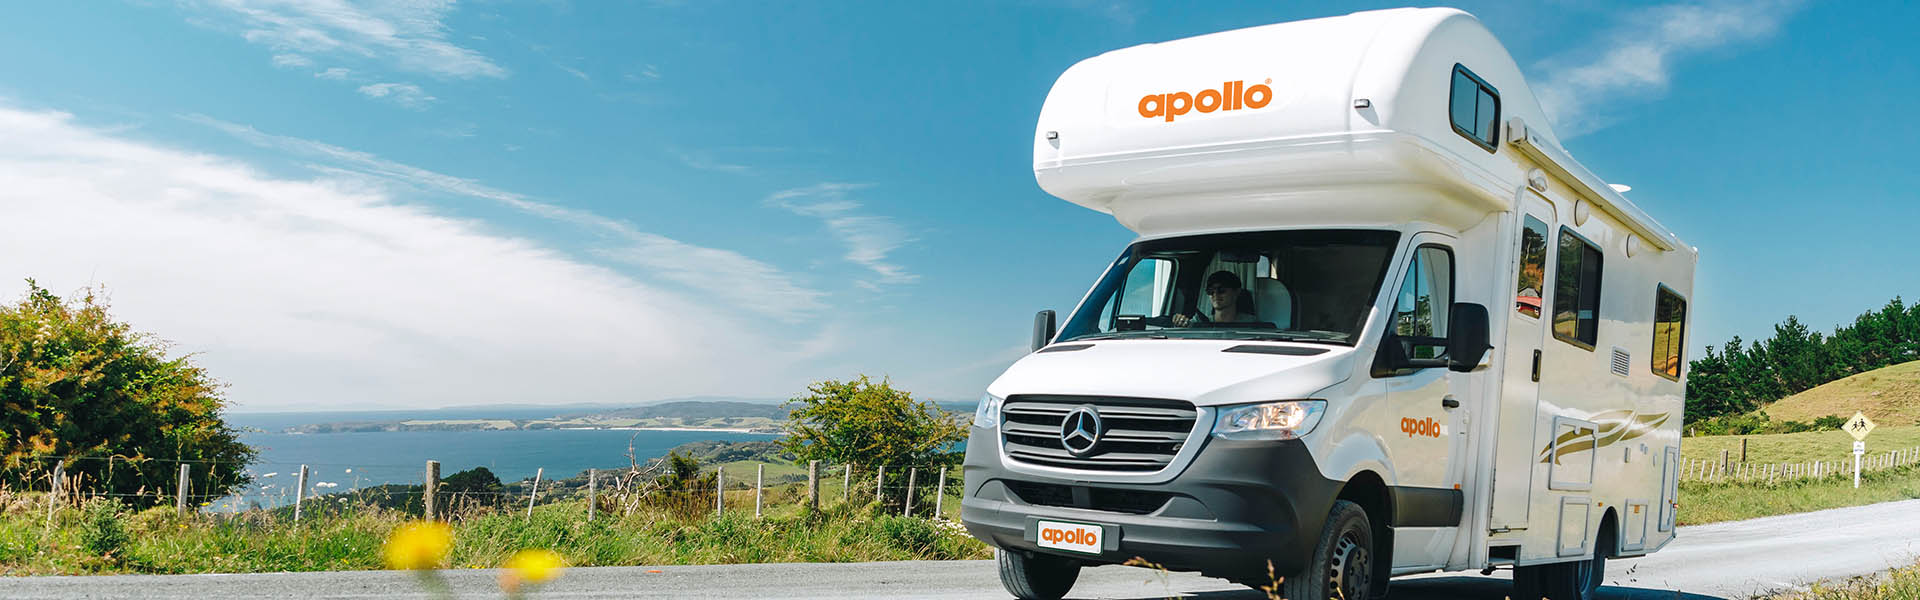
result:
[[[806,288],[785,275],[785,271],[739,252],[685,244],[591,212],[538,202],[472,179],[390,162],[359,150],[269,135],[253,127],[205,115],[186,115],[186,119],[215,127],[255,146],[340,163],[353,173],[453,196],[492,200],[543,219],[586,227],[616,242],[612,248],[599,250],[603,258],[645,267],[655,277],[691,287],[718,298],[722,304],[732,304],[747,312],[791,323],[826,308],[822,292]]]

